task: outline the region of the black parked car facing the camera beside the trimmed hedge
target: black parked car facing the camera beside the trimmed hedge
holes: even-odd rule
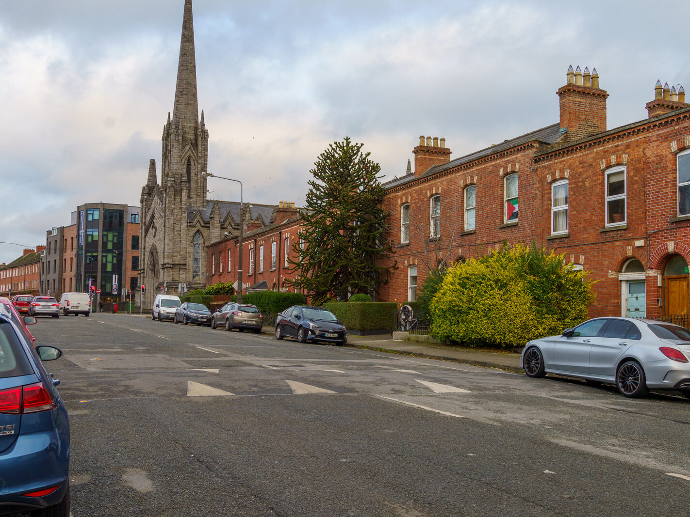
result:
[[[347,329],[329,310],[295,305],[278,314],[275,338],[297,338],[299,343],[325,341],[344,345],[347,343]]]

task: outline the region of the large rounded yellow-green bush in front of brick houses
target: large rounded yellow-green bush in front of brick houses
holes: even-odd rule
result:
[[[441,339],[518,347],[584,321],[594,299],[587,272],[563,255],[504,246],[455,265],[431,301],[432,334]]]

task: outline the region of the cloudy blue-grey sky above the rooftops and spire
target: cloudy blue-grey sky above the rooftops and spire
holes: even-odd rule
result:
[[[0,0],[0,263],[83,203],[139,205],[160,179],[184,0]],[[451,159],[558,122],[566,71],[596,68],[608,128],[647,118],[657,79],[690,88],[690,3],[194,0],[208,172],[244,201],[304,204],[333,141],[382,181],[419,136]],[[239,201],[208,179],[209,199]],[[6,244],[14,243],[14,244]]]

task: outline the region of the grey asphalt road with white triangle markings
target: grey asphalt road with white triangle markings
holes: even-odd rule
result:
[[[72,515],[682,515],[690,402],[273,336],[41,318]]]

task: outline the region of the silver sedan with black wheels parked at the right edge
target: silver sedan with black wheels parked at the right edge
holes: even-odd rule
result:
[[[529,341],[520,367],[530,377],[557,374],[611,383],[627,397],[676,389],[690,398],[690,330],[633,318],[594,318],[560,336]]]

